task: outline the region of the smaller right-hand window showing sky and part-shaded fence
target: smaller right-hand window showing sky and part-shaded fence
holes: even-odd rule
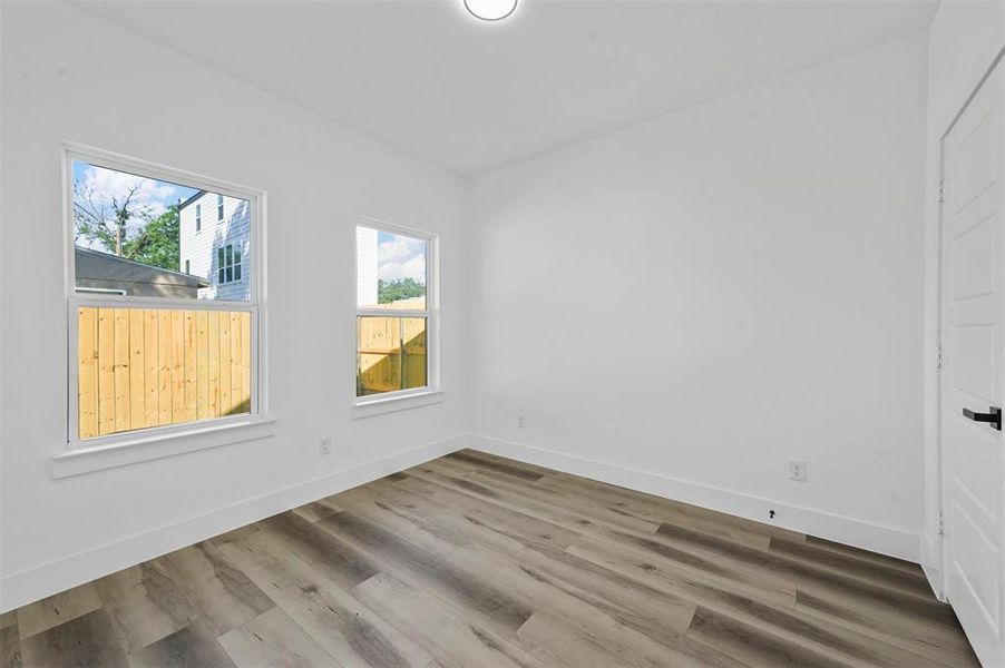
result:
[[[357,227],[358,401],[436,387],[433,252],[428,235]]]

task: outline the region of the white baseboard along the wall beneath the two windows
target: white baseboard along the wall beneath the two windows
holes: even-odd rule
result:
[[[167,552],[213,538],[279,512],[336,494],[465,448],[459,434],[345,471],[275,490],[251,499],[150,529],[77,554],[0,579],[0,612],[103,578]]]

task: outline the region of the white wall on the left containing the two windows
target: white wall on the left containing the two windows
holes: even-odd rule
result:
[[[460,179],[76,8],[2,12],[0,609],[456,446],[443,441],[464,432]],[[267,191],[273,438],[53,480],[67,433],[64,139]],[[360,215],[442,235],[448,394],[353,421]],[[334,451],[320,458],[325,435]]]

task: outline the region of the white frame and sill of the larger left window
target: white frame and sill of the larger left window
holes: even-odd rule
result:
[[[78,293],[76,291],[76,266],[74,250],[74,161],[79,160],[97,167],[126,171],[138,176],[170,181],[192,188],[218,191],[224,195],[246,199],[251,206],[251,225],[248,246],[254,253],[251,296],[247,302],[180,299],[172,297],[137,297],[129,295]],[[203,448],[245,441],[253,438],[271,435],[261,430],[263,424],[274,422],[267,414],[266,383],[266,310],[265,310],[265,193],[257,188],[225,181],[222,179],[166,167],[148,160],[121,154],[65,141],[62,145],[64,178],[64,254],[66,267],[67,301],[67,442],[62,452],[53,458],[53,474],[71,475],[89,470],[104,469],[123,463],[133,463],[144,459],[166,456],[175,452],[187,452]],[[118,432],[89,439],[79,438],[78,419],[78,308],[176,308],[185,311],[247,311],[251,313],[251,412],[243,415],[211,418],[182,424],[150,426],[146,429]],[[246,428],[254,433],[244,432]],[[134,450],[139,444],[156,444],[147,449],[147,455],[127,453],[109,456],[111,450]],[[81,464],[79,454],[100,453],[101,462]],[[72,455],[72,456],[70,456]],[[67,463],[69,462],[69,463]],[[60,473],[60,470],[65,470]]]

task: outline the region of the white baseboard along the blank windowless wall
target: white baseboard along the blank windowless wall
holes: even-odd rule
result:
[[[920,536],[904,529],[489,436],[469,434],[468,448],[918,562]]]

